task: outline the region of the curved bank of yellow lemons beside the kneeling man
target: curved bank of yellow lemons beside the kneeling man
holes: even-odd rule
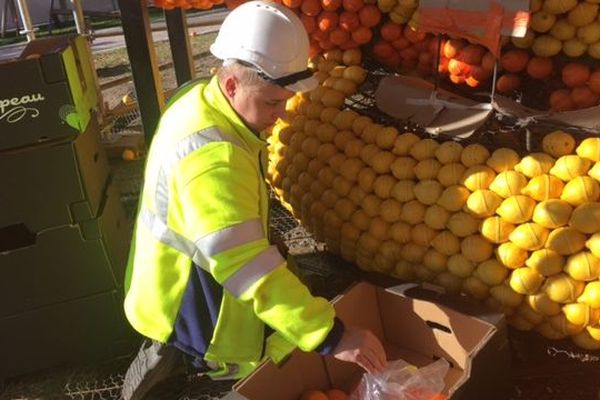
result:
[[[600,348],[600,137],[551,132],[524,157],[423,139],[343,109],[366,77],[357,50],[314,64],[321,86],[273,128],[268,175],[317,239],[364,270]]]

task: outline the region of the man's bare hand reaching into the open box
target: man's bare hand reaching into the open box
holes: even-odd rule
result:
[[[342,361],[354,362],[369,373],[381,372],[387,365],[383,345],[366,329],[346,325],[340,342],[331,353]]]

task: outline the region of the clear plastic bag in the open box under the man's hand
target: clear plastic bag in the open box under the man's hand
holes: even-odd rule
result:
[[[364,374],[350,400],[433,400],[445,399],[444,377],[450,365],[439,360],[422,368],[396,360],[377,374]]]

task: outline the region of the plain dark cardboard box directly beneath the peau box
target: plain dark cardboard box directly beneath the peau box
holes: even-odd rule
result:
[[[96,218],[108,175],[95,120],[75,140],[0,151],[0,230],[23,224],[36,234]]]

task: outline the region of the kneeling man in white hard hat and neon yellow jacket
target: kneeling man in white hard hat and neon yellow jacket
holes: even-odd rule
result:
[[[144,398],[182,354],[214,379],[244,377],[294,347],[384,368],[379,340],[336,319],[267,237],[259,133],[295,92],[316,87],[308,48],[291,10],[245,3],[211,46],[217,75],[180,89],[161,117],[126,276],[127,318],[150,340],[126,374],[125,400]]]

